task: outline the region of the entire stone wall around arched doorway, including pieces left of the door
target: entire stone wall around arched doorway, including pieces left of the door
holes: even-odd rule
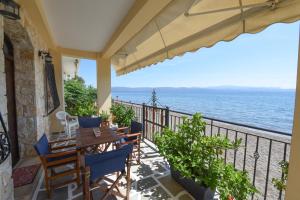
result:
[[[48,117],[45,116],[44,65],[38,56],[47,45],[36,31],[26,13],[21,20],[12,21],[0,16],[0,45],[4,32],[14,49],[15,93],[17,130],[21,159],[35,156],[33,144],[43,133],[48,133]],[[26,20],[25,20],[26,19]],[[7,124],[6,79],[3,51],[0,51],[0,111]],[[11,157],[0,165],[0,200],[14,199]]]

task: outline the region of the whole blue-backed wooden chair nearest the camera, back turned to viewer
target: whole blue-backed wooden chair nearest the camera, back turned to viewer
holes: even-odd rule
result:
[[[116,195],[128,199],[130,192],[130,160],[133,145],[124,145],[121,148],[105,153],[90,154],[85,156],[85,178],[84,178],[84,195],[85,199],[92,197],[92,190],[99,188],[104,191],[102,199],[109,195]],[[126,167],[127,166],[127,167]],[[125,170],[127,168],[127,171]],[[121,173],[120,173],[121,172]],[[105,177],[108,174],[117,173],[116,180]],[[126,175],[127,188],[126,195],[123,195],[119,188],[118,182]],[[108,189],[104,189],[99,182],[106,180],[111,183]],[[90,186],[92,185],[92,187]],[[116,190],[114,190],[116,189]]]

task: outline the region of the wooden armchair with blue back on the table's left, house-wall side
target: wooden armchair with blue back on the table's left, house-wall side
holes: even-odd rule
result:
[[[49,142],[44,134],[34,145],[44,168],[45,186],[49,197],[51,196],[52,188],[55,189],[72,182],[76,182],[78,185],[80,184],[79,151],[74,148],[76,147],[76,144],[69,144],[65,146],[59,145],[54,147],[55,144],[65,143],[70,140],[74,139]],[[74,164],[74,167],[59,173],[55,172],[55,168],[66,166],[67,164]],[[74,174],[75,178],[64,181],[60,184],[52,185],[53,180]]]

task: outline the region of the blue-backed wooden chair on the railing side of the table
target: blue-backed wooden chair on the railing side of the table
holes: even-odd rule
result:
[[[119,145],[133,144],[132,157],[137,163],[141,163],[141,139],[142,139],[143,124],[137,121],[132,121],[130,128],[122,127],[117,130],[118,136],[121,138]]]

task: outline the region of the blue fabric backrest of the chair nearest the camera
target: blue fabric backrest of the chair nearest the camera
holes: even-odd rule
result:
[[[91,180],[107,174],[124,171],[126,158],[132,153],[133,145],[124,145],[120,149],[85,156],[85,164],[91,169]]]

